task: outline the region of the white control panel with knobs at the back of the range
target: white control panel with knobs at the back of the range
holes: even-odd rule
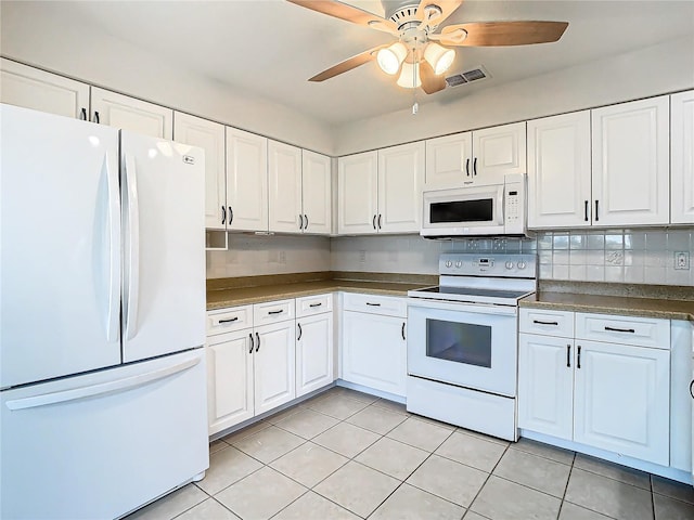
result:
[[[535,278],[537,256],[529,253],[445,252],[438,260],[441,275]]]

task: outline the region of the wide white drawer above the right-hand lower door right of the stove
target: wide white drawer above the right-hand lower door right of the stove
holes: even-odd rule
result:
[[[576,339],[670,349],[670,322],[650,317],[576,313]]]

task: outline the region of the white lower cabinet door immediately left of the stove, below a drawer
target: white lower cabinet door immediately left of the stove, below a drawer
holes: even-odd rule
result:
[[[343,379],[404,395],[407,379],[406,320],[345,311]]]

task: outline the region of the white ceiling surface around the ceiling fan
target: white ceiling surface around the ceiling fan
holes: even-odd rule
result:
[[[373,0],[352,3],[378,6]],[[401,110],[412,103],[412,91],[397,87],[375,63],[321,83],[308,82],[314,74],[391,37],[282,0],[46,5],[61,10],[65,15],[61,23],[74,24],[64,30],[79,31],[81,24],[100,27],[167,62],[185,64],[237,91],[265,96],[329,125]],[[450,74],[484,65],[491,78],[430,96],[417,90],[420,104],[447,103],[476,89],[693,35],[694,1],[466,0],[444,25],[503,20],[564,21],[569,26],[556,43],[459,48]]]

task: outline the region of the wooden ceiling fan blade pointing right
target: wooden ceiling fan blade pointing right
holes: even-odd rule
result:
[[[530,46],[558,40],[566,27],[567,22],[473,22],[444,27],[436,39],[459,47]]]

